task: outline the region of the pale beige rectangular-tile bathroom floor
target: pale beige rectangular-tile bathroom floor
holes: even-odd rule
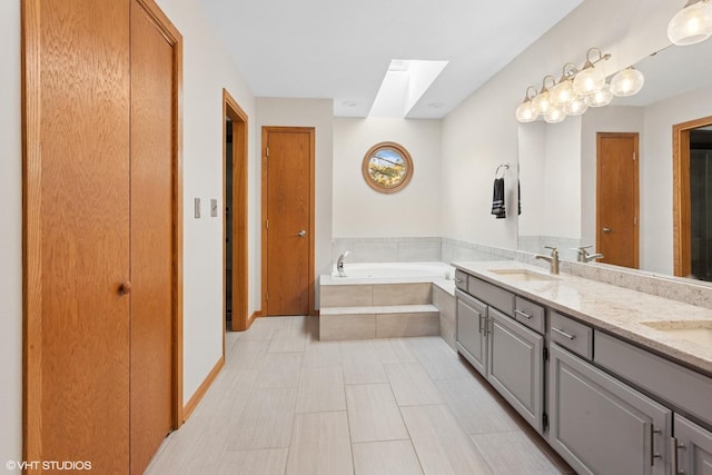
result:
[[[319,342],[316,318],[228,333],[226,364],[147,474],[568,474],[441,337]]]

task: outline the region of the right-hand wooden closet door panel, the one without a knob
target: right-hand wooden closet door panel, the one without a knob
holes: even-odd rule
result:
[[[131,0],[131,473],[171,428],[174,51]]]

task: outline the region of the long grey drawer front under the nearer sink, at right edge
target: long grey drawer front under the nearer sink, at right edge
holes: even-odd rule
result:
[[[712,425],[712,378],[599,330],[594,362]]]

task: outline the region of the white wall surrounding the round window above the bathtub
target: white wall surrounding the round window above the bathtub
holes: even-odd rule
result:
[[[395,194],[380,194],[363,178],[366,151],[395,141],[413,158],[413,178]],[[335,119],[334,237],[441,236],[441,121]]]

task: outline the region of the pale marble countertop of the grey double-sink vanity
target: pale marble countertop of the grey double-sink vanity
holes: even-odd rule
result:
[[[541,267],[520,261],[456,261],[467,274],[495,284],[523,297],[604,329],[613,335],[651,348],[659,354],[712,375],[712,347],[686,340],[643,325],[654,321],[663,327],[684,320],[690,326],[706,321],[712,326],[712,309],[643,294],[567,274],[548,276]],[[551,279],[520,280],[492,270],[525,269]]]

